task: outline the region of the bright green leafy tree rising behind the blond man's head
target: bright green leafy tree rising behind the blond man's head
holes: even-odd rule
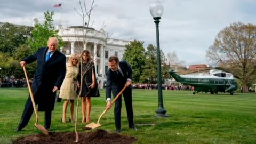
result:
[[[63,45],[61,37],[58,35],[58,30],[54,30],[53,26],[54,12],[44,12],[43,25],[38,23],[32,31],[33,38],[28,39],[28,44],[31,48],[31,53],[34,53],[39,47],[47,46],[49,37],[57,37],[59,39],[59,48]]]

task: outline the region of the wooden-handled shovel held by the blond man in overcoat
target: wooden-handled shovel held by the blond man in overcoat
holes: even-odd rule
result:
[[[38,124],[38,113],[37,113],[37,110],[36,110],[36,104],[35,104],[35,100],[34,100],[34,94],[32,92],[32,89],[30,87],[30,84],[29,84],[29,81],[28,81],[28,75],[27,75],[27,70],[26,70],[26,67],[23,66],[23,70],[24,70],[24,73],[25,73],[25,76],[26,76],[26,80],[27,80],[27,84],[28,84],[28,89],[29,89],[29,94],[30,94],[30,99],[32,101],[32,104],[33,104],[33,107],[34,107],[34,111],[35,111],[35,115],[36,115],[36,123],[35,123],[35,126],[38,130],[40,130],[43,134],[45,135],[48,135],[48,131],[42,126],[42,125],[39,125]]]

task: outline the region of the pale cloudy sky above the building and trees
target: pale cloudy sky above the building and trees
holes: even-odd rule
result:
[[[81,0],[83,3],[83,0]],[[206,51],[217,34],[231,23],[256,24],[254,0],[162,0],[164,12],[159,23],[160,49],[177,53],[184,65],[209,64]],[[61,8],[53,7],[60,4]],[[156,46],[156,27],[150,15],[152,0],[95,0],[92,27],[111,38],[143,41]],[[85,0],[87,9],[92,0]],[[78,0],[0,0],[0,21],[31,26],[35,18],[44,21],[45,11],[54,11],[54,22],[63,27],[83,25]]]

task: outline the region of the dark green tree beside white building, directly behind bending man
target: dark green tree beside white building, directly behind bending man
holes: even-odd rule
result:
[[[142,41],[134,40],[130,44],[126,44],[123,59],[130,63],[133,72],[133,82],[140,82],[140,76],[145,69],[145,49]]]

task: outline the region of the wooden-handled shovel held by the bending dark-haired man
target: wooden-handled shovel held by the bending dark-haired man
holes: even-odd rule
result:
[[[115,101],[120,97],[120,95],[123,93],[123,91],[126,89],[127,85],[124,86],[124,88],[116,95],[115,99],[113,101],[111,101],[111,105],[113,105],[115,103]],[[85,129],[84,130],[90,130],[90,129],[95,129],[97,127],[100,127],[101,124],[100,124],[100,119],[102,118],[102,116],[109,110],[110,108],[107,108],[103,111],[103,113],[100,115],[99,119],[98,119],[98,123],[95,124],[95,123],[90,123],[90,124],[87,124],[85,126]]]

